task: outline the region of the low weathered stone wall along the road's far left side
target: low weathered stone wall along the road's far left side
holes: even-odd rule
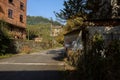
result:
[[[47,43],[35,42],[32,40],[15,40],[14,41],[15,50],[17,53],[30,53],[34,51],[40,51],[43,49],[50,48]]]

